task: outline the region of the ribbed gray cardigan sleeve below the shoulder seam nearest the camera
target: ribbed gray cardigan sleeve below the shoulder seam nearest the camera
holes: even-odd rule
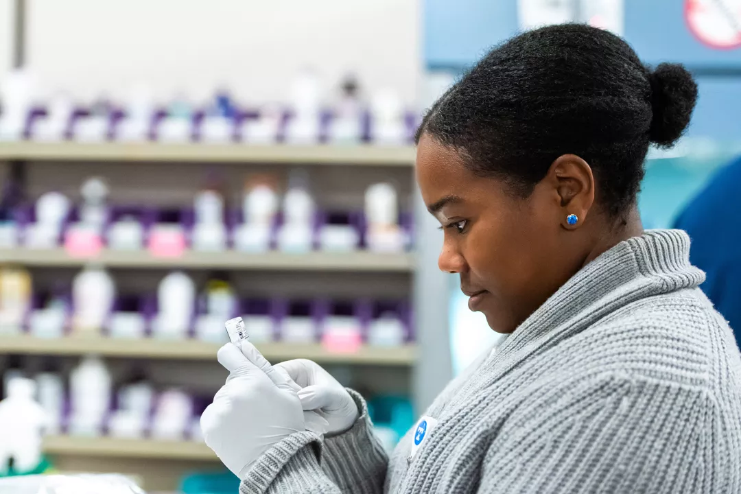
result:
[[[701,387],[602,375],[537,397],[496,434],[478,493],[731,493],[737,452],[718,439],[741,426]]]

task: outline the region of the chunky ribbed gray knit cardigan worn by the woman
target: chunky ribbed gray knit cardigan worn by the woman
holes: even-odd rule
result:
[[[741,493],[741,356],[688,259],[654,230],[585,266],[448,384],[411,461],[415,430],[388,458],[352,392],[348,432],[291,435],[241,492]]]

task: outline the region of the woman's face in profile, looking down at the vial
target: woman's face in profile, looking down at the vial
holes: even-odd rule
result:
[[[584,263],[582,235],[564,226],[562,196],[571,197],[574,187],[568,178],[546,177],[531,196],[517,198],[425,134],[416,178],[445,233],[439,268],[460,273],[468,307],[484,313],[495,331],[514,331]]]

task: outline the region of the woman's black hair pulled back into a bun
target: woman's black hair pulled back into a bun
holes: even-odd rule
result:
[[[573,153],[594,170],[598,204],[621,217],[635,204],[648,144],[674,144],[696,100],[681,65],[651,71],[618,36],[560,24],[491,50],[433,104],[416,139],[452,147],[521,197]]]

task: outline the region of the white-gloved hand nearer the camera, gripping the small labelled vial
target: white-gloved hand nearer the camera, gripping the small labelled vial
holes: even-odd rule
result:
[[[247,470],[273,444],[305,430],[304,412],[296,384],[276,372],[248,341],[219,349],[219,363],[229,371],[201,415],[208,447],[244,480]]]

